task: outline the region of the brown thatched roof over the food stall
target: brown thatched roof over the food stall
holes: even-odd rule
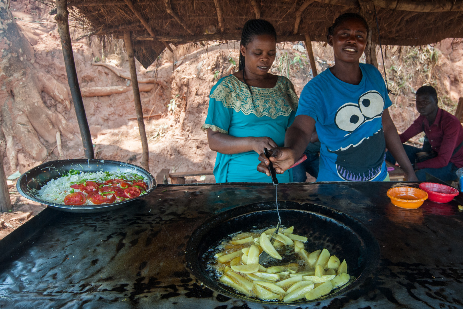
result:
[[[280,42],[303,41],[306,33],[325,41],[328,27],[345,12],[369,14],[371,28],[374,11],[382,44],[463,38],[462,0],[72,0],[68,6],[91,35],[122,38],[131,30],[142,63],[154,61],[166,43],[239,40],[246,20],[259,16],[275,26]]]

